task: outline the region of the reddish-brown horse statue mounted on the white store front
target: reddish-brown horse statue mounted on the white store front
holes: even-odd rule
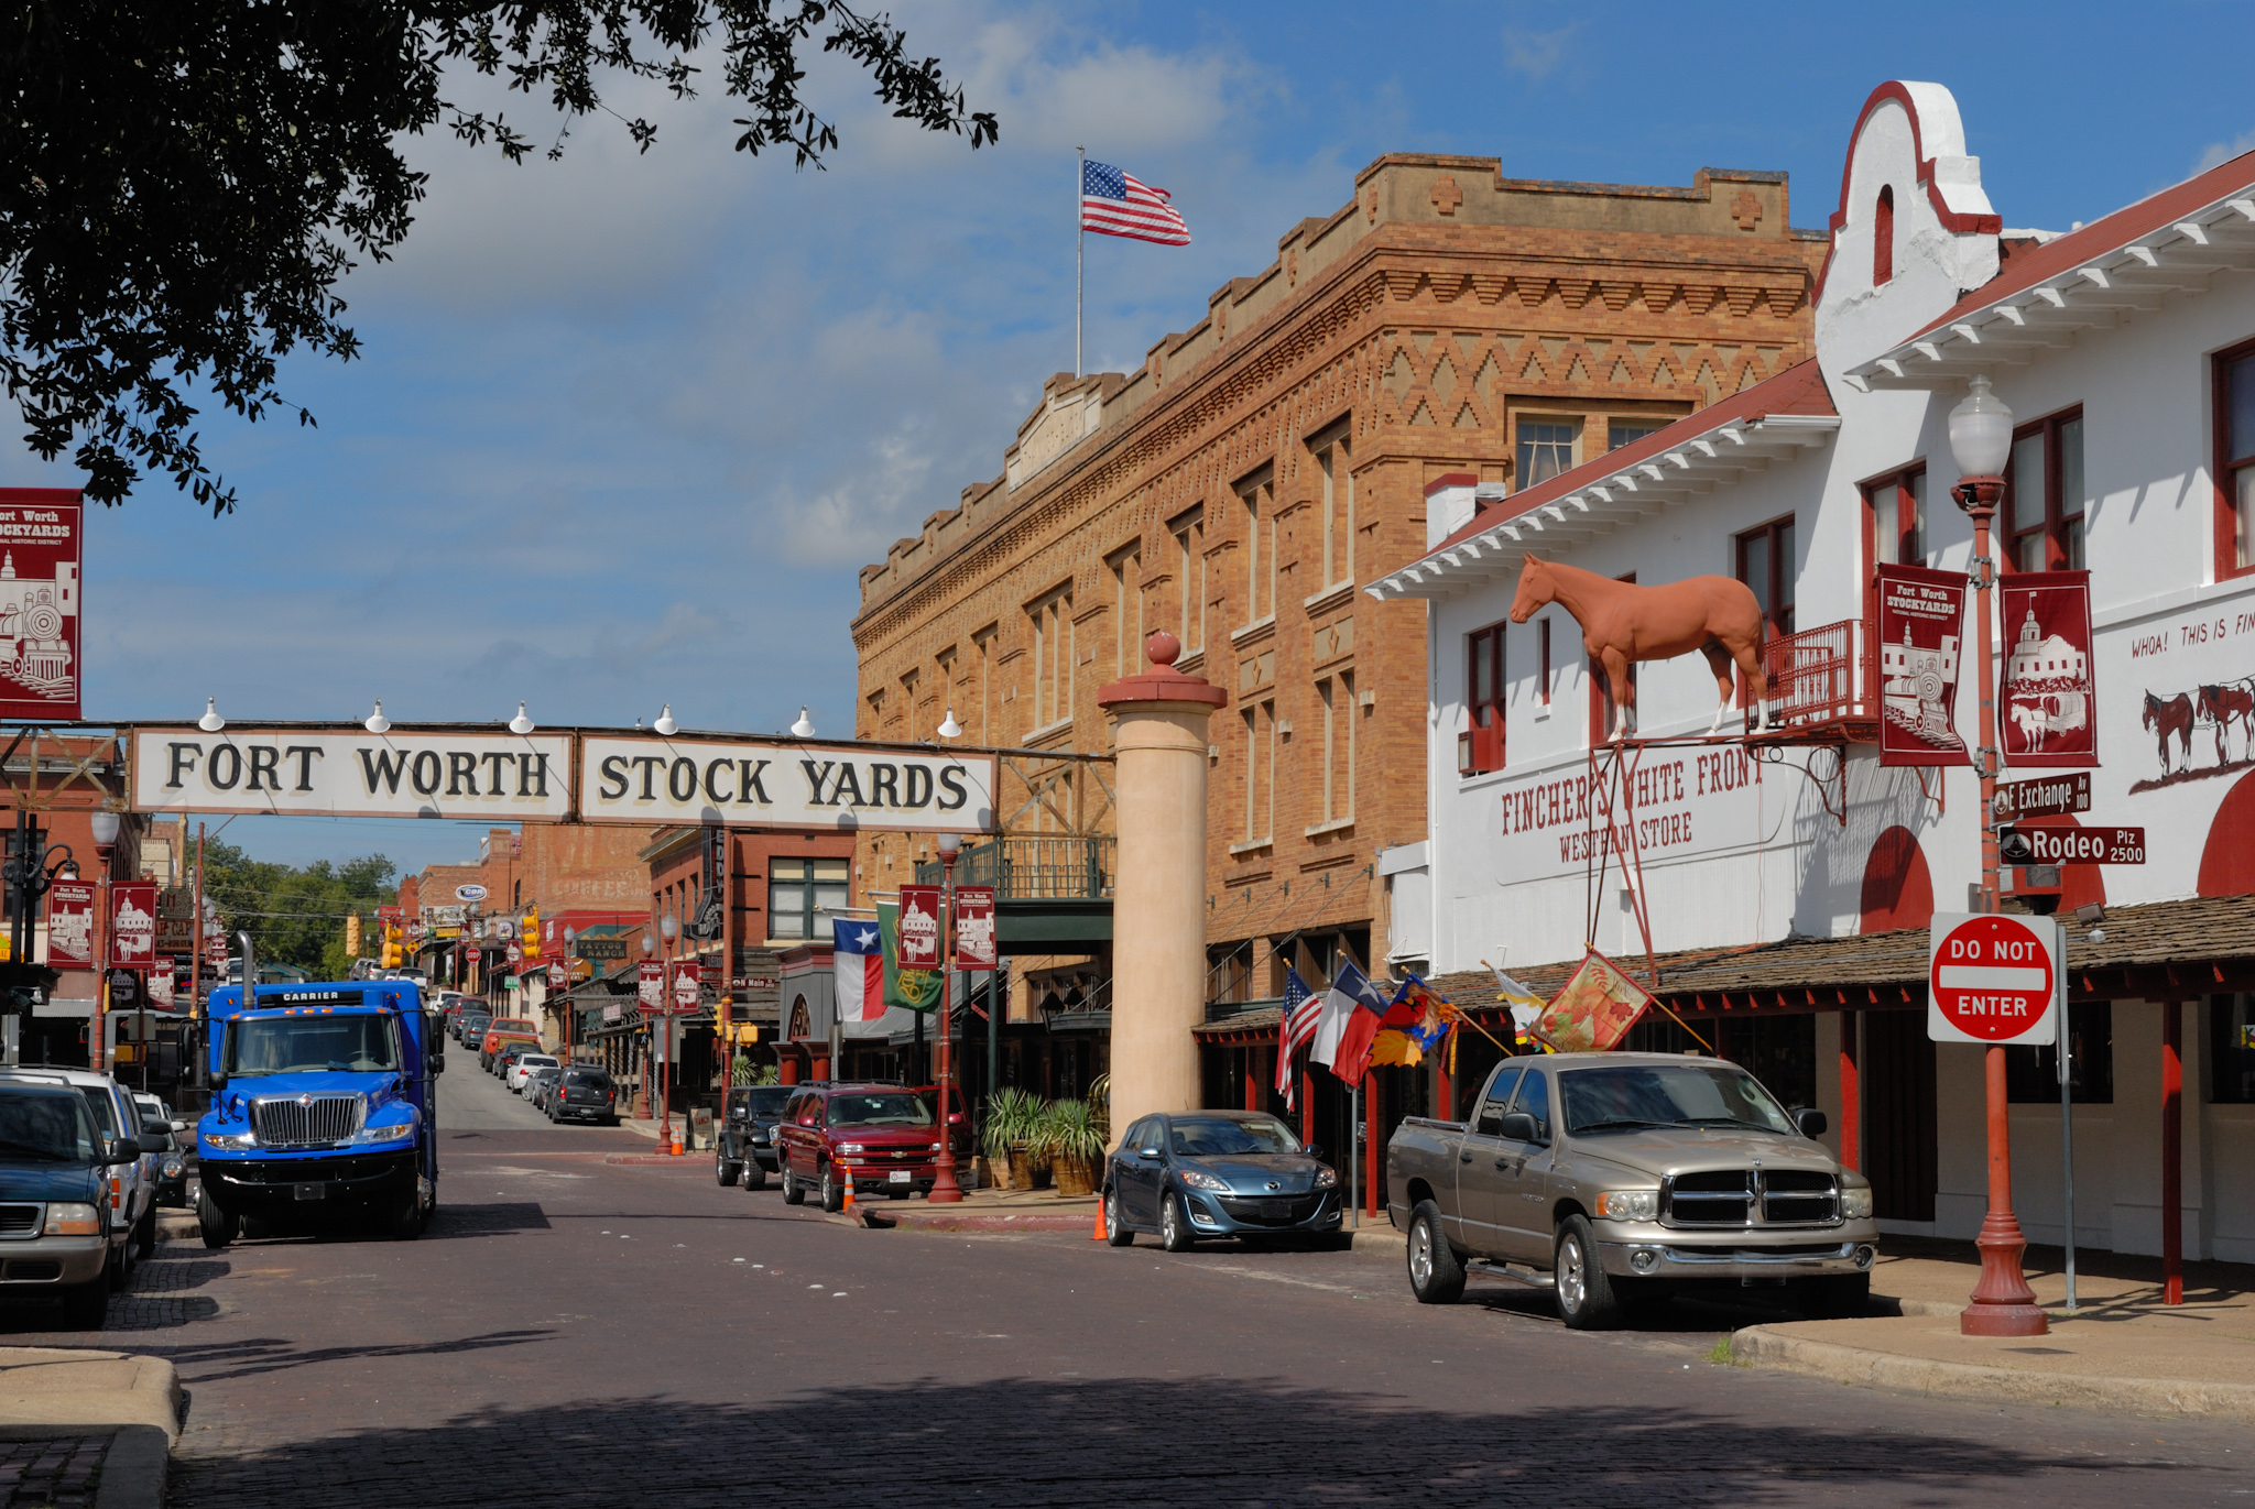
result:
[[[1671,661],[1694,650],[1707,656],[1721,692],[1707,735],[1721,733],[1723,715],[1730,713],[1732,665],[1745,677],[1754,706],[1761,708],[1754,731],[1770,731],[1770,679],[1761,670],[1761,605],[1745,582],[1684,577],[1664,586],[1637,586],[1529,555],[1520,566],[1511,623],[1527,623],[1549,602],[1563,605],[1574,616],[1590,665],[1606,672],[1606,686],[1612,690],[1608,738],[1615,744],[1628,738],[1637,706],[1637,683],[1628,679],[1628,668],[1635,661]]]

